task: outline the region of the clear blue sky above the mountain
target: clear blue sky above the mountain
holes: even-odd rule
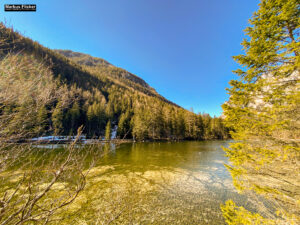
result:
[[[259,0],[28,0],[0,20],[52,49],[104,58],[195,112],[221,115],[243,30]]]

